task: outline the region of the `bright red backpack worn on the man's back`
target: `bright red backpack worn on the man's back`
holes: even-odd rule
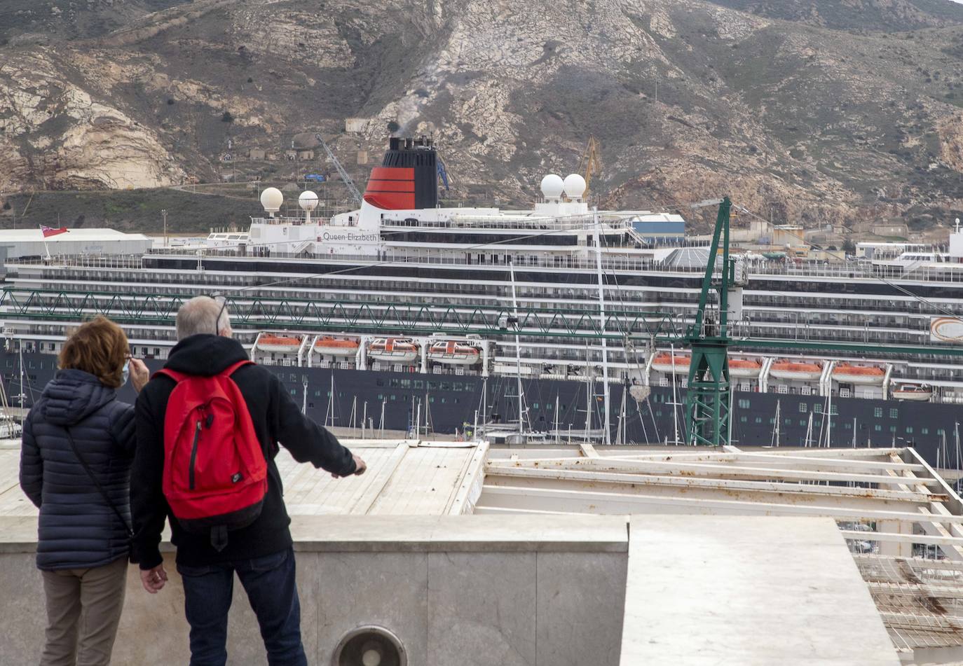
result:
[[[164,497],[189,532],[211,531],[221,551],[227,531],[253,523],[268,491],[268,464],[247,402],[231,374],[158,371],[177,382],[164,418]]]

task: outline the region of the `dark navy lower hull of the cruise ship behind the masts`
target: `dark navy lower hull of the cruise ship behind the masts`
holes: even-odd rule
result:
[[[23,354],[25,407],[30,407],[39,397],[53,376],[55,363],[56,358],[49,354]],[[148,360],[147,364],[151,371],[156,371],[163,362]],[[18,354],[0,352],[4,390],[13,406],[20,404],[19,368]],[[383,426],[385,430],[413,432],[417,419],[421,424],[427,421],[433,432],[455,433],[455,430],[463,431],[466,425],[470,428],[477,422],[483,423],[485,407],[489,422],[517,423],[518,420],[514,377],[489,377],[485,382],[478,375],[268,368],[284,382],[292,399],[304,404],[308,416],[318,423],[360,428],[367,415],[368,423],[375,430]],[[332,379],[334,397],[330,399]],[[568,431],[574,437],[581,437],[586,431],[586,409],[591,411],[591,429],[598,431],[603,427],[601,383],[589,389],[586,382],[523,379],[522,387],[528,423],[535,431],[554,431],[558,425],[563,438]],[[623,391],[623,386],[610,386],[613,442],[622,414]],[[673,403],[678,405],[684,401],[684,391],[677,391],[675,396],[673,398],[671,387],[652,387],[651,397],[641,403],[627,396],[625,441],[671,444],[677,439],[683,440],[683,410]],[[133,401],[134,392],[129,385],[125,386],[119,391],[119,397]],[[786,447],[816,447],[820,443],[826,446],[827,440],[829,446],[835,448],[851,448],[854,443],[861,448],[896,444],[914,446],[927,460],[936,463],[937,451],[943,447],[945,438],[949,462],[945,462],[946,454],[941,452],[940,464],[955,468],[954,428],[961,412],[963,406],[960,405],[930,402],[833,397],[829,404],[825,397],[818,396],[737,392],[733,399],[732,441],[743,446],[771,446],[776,444],[778,436],[778,444]]]

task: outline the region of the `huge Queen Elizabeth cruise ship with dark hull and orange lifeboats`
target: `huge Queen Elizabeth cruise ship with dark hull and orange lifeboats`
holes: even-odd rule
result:
[[[577,174],[542,179],[530,210],[441,207],[438,185],[432,141],[392,138],[351,212],[321,216],[313,192],[291,212],[269,188],[246,232],[8,259],[5,393],[29,407],[66,331],[94,314],[124,325],[159,368],[179,304],[215,295],[252,358],[319,423],[684,442],[690,357],[678,341],[709,253],[637,231],[682,218],[593,209]],[[909,445],[958,466],[958,227],[943,253],[838,264],[744,253],[740,266],[733,443]]]

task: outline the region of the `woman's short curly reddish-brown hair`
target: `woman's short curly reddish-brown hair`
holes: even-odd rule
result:
[[[106,317],[81,324],[64,343],[61,370],[90,372],[105,386],[121,386],[121,373],[129,346],[123,329]]]

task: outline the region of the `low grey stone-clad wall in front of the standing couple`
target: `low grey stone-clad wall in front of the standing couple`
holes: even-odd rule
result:
[[[628,536],[620,517],[334,516],[296,519],[304,645],[330,663],[352,628],[380,625],[411,666],[615,666],[621,650]],[[36,519],[0,518],[0,664],[36,664],[44,604]],[[134,567],[114,664],[186,663],[183,590],[143,591]],[[230,664],[266,660],[239,583]]]

